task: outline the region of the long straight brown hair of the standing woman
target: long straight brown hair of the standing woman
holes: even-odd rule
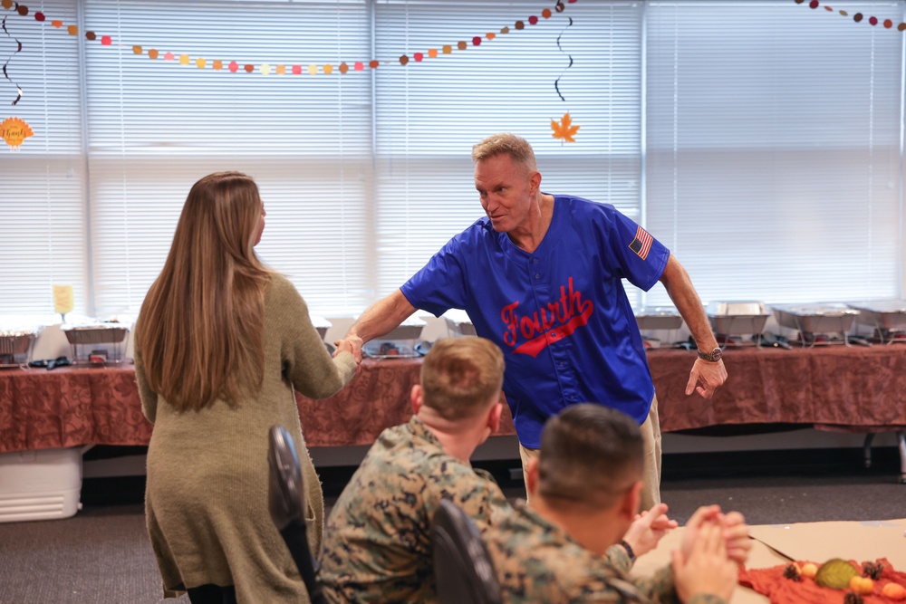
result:
[[[136,350],[149,387],[179,409],[235,404],[264,377],[258,187],[217,172],[188,192],[167,262],[141,304]]]

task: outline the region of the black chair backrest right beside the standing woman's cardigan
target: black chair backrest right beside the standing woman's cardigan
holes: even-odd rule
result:
[[[267,465],[270,466],[267,503],[271,518],[293,555],[308,590],[308,598],[312,604],[323,604],[321,586],[315,578],[317,563],[308,547],[302,469],[295,453],[293,436],[282,426],[272,426],[267,437]]]

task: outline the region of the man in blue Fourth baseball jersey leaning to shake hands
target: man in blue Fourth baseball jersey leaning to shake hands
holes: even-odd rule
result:
[[[361,314],[343,340],[361,345],[417,309],[464,309],[479,336],[504,351],[504,392],[523,469],[560,409],[601,401],[641,425],[641,509],[660,503],[660,423],[651,371],[622,279],[660,281],[699,348],[686,394],[710,398],[727,379],[718,342],[670,250],[613,206],[541,191],[531,145],[497,134],[472,149],[487,216],[453,237],[399,290]],[[337,342],[339,344],[339,342]]]

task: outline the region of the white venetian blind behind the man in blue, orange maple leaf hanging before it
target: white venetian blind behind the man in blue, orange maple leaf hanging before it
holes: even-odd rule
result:
[[[381,293],[399,287],[482,216],[470,154],[495,132],[532,143],[545,192],[612,203],[639,219],[641,4],[564,5],[556,13],[554,3],[376,2],[377,52],[409,59],[405,67],[381,67],[375,78]],[[541,13],[545,7],[550,18]],[[460,41],[466,50],[458,50]],[[421,62],[415,53],[423,54]],[[554,89],[558,77],[564,100]],[[552,136],[551,120],[566,111],[581,127],[575,143]]]

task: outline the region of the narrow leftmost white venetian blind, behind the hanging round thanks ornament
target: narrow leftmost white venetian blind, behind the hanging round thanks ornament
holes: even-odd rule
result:
[[[85,312],[85,197],[77,39],[52,20],[74,24],[75,0],[28,3],[29,13],[0,8],[0,122],[17,117],[34,131],[14,151],[0,140],[0,315],[53,315],[53,284],[72,285]],[[46,15],[42,23],[36,11]],[[22,43],[16,53],[15,40]],[[3,322],[0,321],[0,329]]]

